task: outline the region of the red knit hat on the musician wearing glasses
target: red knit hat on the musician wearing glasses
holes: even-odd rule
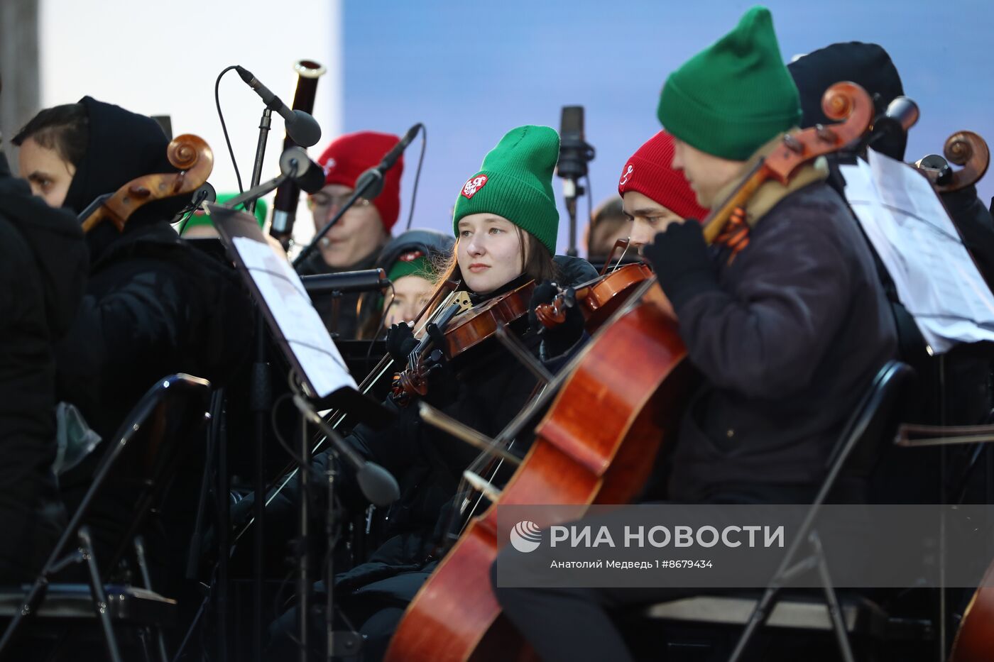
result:
[[[336,138],[321,154],[318,164],[324,168],[324,183],[355,187],[364,172],[380,163],[380,159],[401,140],[390,133],[359,131]],[[383,191],[373,200],[380,212],[383,227],[390,234],[401,213],[401,175],[404,156],[397,159],[383,178]]]

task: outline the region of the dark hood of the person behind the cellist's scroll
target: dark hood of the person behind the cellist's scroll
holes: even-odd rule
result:
[[[898,68],[877,44],[832,44],[798,58],[787,69],[800,92],[802,128],[831,121],[822,112],[821,97],[834,83],[851,81],[866,89],[874,97],[875,114],[884,112],[895,97],[905,93]],[[904,160],[907,144],[908,135],[896,132],[877,140],[874,149]]]

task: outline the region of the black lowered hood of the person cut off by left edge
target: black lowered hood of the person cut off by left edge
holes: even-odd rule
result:
[[[28,183],[11,176],[0,153],[0,215],[31,247],[45,287],[46,316],[61,337],[76,316],[86,283],[88,252],[76,217],[31,195]]]

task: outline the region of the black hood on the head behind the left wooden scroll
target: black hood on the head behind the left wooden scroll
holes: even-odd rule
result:
[[[166,156],[169,140],[154,119],[90,96],[83,96],[80,103],[86,108],[89,138],[63,207],[80,214],[98,196],[114,193],[133,179],[178,172]],[[148,203],[131,215],[123,234],[167,223],[188,202],[190,198],[184,195]],[[86,235],[92,258],[97,259],[120,237],[110,224],[98,225]]]

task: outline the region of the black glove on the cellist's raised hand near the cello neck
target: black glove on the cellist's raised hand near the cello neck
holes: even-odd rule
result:
[[[695,219],[671,223],[652,244],[642,247],[642,254],[652,263],[659,286],[675,309],[694,295],[718,287],[715,263]]]

